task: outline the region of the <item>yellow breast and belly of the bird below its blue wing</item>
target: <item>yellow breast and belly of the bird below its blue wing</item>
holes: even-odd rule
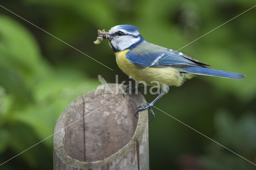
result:
[[[191,74],[181,74],[182,68],[165,67],[165,68],[144,68],[135,66],[127,58],[126,54],[129,50],[116,52],[116,63],[118,67],[132,79],[140,82],[144,81],[148,86],[155,86],[158,81],[159,84],[167,84],[169,86],[180,86],[185,79],[192,78]]]

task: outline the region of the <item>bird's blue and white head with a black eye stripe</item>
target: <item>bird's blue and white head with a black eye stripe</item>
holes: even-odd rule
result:
[[[108,43],[114,52],[132,49],[144,42],[144,38],[133,25],[118,25],[108,32]]]

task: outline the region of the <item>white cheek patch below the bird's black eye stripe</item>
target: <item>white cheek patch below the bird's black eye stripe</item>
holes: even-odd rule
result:
[[[120,36],[120,37],[115,37],[111,41],[111,44],[114,48],[122,51],[125,50],[126,48],[129,48],[132,44],[135,44],[140,40],[140,37],[134,38],[133,36]]]

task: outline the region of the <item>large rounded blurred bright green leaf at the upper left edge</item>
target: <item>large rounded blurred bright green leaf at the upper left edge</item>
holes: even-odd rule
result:
[[[25,83],[31,78],[40,63],[39,48],[35,39],[23,26],[7,16],[0,16],[1,65],[12,68]]]

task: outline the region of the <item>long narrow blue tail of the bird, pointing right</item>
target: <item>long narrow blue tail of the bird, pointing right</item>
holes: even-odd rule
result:
[[[224,77],[224,78],[233,78],[233,79],[242,79],[245,76],[238,73],[226,72],[222,70],[215,70],[207,67],[197,67],[191,66],[185,69],[185,72],[192,73],[192,74],[202,74],[206,76],[217,76],[217,77]]]

